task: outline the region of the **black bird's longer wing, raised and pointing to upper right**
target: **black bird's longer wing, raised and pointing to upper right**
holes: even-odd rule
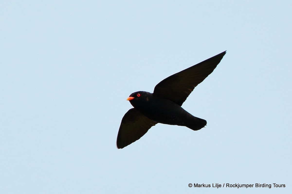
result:
[[[226,51],[167,77],[155,86],[153,94],[181,106],[194,88],[213,72],[225,53]]]

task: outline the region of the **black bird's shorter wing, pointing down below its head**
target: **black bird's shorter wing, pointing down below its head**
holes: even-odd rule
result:
[[[157,122],[147,118],[136,108],[131,108],[121,121],[117,137],[117,147],[124,148],[140,139]]]

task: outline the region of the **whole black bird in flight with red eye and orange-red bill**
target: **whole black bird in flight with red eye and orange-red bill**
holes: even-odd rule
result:
[[[138,91],[127,98],[131,108],[122,118],[117,147],[124,148],[140,139],[157,123],[185,126],[199,130],[207,121],[194,117],[181,106],[194,88],[220,63],[226,51],[159,82],[153,93]]]

